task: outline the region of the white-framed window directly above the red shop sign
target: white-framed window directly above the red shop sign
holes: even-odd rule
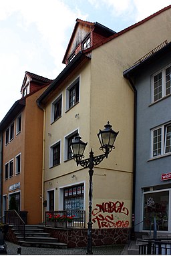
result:
[[[171,124],[152,130],[152,157],[171,152]]]

